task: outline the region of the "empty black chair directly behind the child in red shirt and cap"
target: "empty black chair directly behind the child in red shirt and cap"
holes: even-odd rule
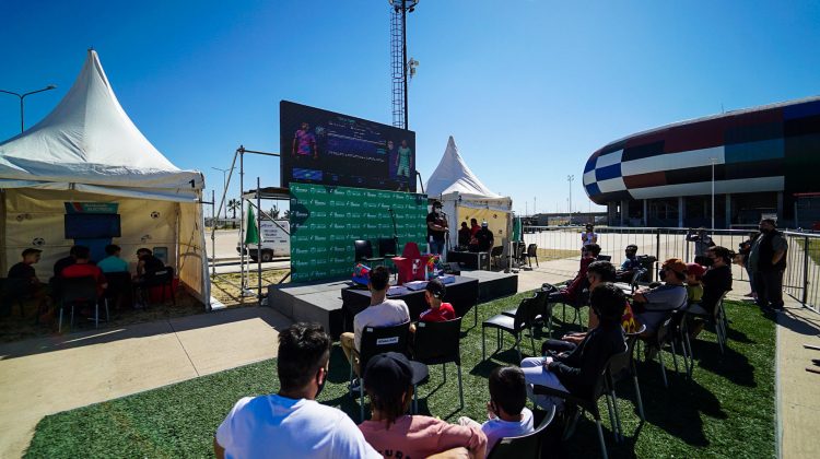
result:
[[[442,376],[447,382],[447,363],[455,363],[458,369],[458,398],[464,408],[461,386],[461,318],[444,322],[419,322],[415,326],[413,360],[424,365],[442,365]]]

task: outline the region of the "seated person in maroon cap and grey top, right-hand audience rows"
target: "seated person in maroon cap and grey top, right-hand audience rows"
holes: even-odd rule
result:
[[[632,296],[635,318],[646,326],[645,336],[652,336],[671,311],[687,306],[687,263],[680,258],[670,258],[660,266],[664,284],[655,289],[641,289]]]

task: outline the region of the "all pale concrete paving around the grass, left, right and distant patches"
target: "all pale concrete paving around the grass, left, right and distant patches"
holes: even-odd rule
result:
[[[519,272],[519,291],[574,275],[577,259]],[[741,299],[748,283],[736,281]],[[0,457],[19,457],[51,413],[165,386],[276,355],[277,329],[290,321],[247,307],[0,346]],[[820,316],[794,302],[778,316],[777,412],[784,458],[820,450],[820,375],[805,370],[820,351]]]

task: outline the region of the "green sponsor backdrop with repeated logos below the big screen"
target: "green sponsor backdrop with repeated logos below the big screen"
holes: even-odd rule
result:
[[[291,184],[292,282],[349,276],[355,264],[354,240],[370,240],[376,255],[378,239],[393,237],[389,209],[396,215],[399,252],[409,242],[423,247],[424,195]]]

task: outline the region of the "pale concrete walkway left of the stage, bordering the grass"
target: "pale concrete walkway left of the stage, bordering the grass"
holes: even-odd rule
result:
[[[0,345],[0,457],[48,414],[274,357],[289,325],[246,307]]]

